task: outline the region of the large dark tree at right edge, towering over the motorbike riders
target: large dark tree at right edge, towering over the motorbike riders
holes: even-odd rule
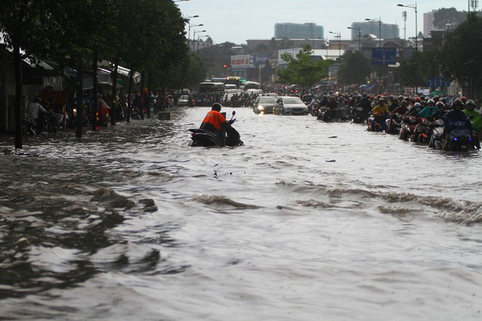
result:
[[[480,97],[482,88],[482,18],[474,12],[451,32],[441,49],[441,71],[448,80],[457,79]],[[465,87],[464,86],[464,87]]]

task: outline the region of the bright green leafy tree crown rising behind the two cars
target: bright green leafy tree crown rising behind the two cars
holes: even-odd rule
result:
[[[328,62],[324,60],[314,61],[311,59],[311,46],[307,45],[296,57],[291,53],[285,52],[281,58],[288,62],[287,68],[278,70],[280,82],[298,84],[303,88],[309,88],[319,84],[322,78],[328,75]]]

